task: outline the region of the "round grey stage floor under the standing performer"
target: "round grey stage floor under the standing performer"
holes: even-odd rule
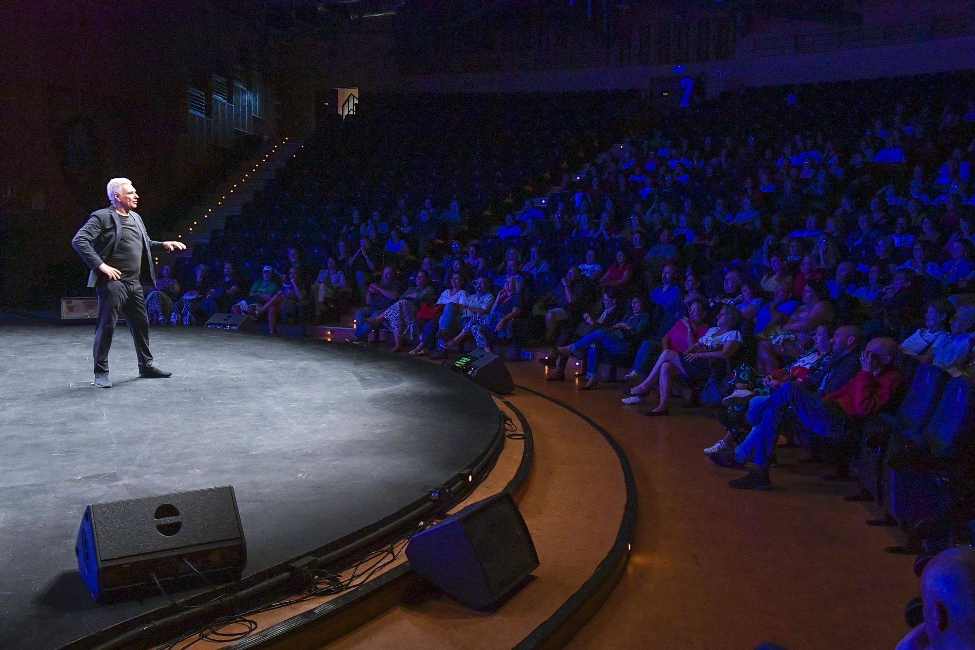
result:
[[[480,457],[486,390],[346,343],[151,332],[169,379],[140,379],[116,331],[92,386],[89,326],[0,326],[0,647],[43,650],[166,602],[98,605],[74,543],[92,503],[233,485],[245,575],[406,508]]]

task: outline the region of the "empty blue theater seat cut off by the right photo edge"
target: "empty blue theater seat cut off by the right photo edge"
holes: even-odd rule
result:
[[[946,516],[970,480],[973,441],[975,384],[956,377],[920,440],[887,459],[881,482],[890,514],[902,523]]]

